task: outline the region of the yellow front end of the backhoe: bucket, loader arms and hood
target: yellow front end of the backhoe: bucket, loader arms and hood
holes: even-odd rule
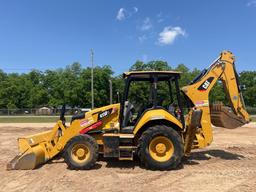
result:
[[[7,170],[35,169],[65,151],[66,144],[75,136],[90,131],[103,132],[112,128],[112,124],[113,127],[118,126],[119,108],[120,104],[112,104],[80,114],[76,118],[73,116],[70,126],[64,124],[62,113],[52,130],[18,138],[19,154],[7,164]],[[95,136],[95,141],[102,145],[102,136]]]

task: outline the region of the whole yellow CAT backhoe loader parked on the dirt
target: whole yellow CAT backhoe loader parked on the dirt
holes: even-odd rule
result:
[[[119,160],[133,160],[137,155],[152,170],[176,168],[191,150],[211,144],[212,121],[231,128],[250,121],[234,62],[233,54],[223,51],[181,89],[177,71],[126,72],[121,103],[74,115],[70,125],[65,123],[63,109],[52,130],[18,138],[20,153],[7,169],[34,169],[58,154],[70,169],[92,168],[99,154]],[[224,119],[222,107],[209,105],[209,92],[218,81],[222,81],[233,110],[232,115],[225,111]],[[132,92],[136,83],[143,86]],[[139,97],[142,89],[148,90],[147,100]],[[211,112],[216,112],[212,118]],[[233,117],[239,123],[234,123]]]

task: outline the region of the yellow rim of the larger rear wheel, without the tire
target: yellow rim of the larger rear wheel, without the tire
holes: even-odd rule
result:
[[[168,161],[174,153],[174,146],[170,139],[164,136],[157,136],[149,144],[149,154],[159,162]]]

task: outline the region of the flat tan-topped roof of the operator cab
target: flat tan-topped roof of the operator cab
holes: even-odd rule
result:
[[[168,80],[173,77],[180,77],[180,71],[129,71],[123,73],[124,78],[151,79],[157,76],[159,79]]]

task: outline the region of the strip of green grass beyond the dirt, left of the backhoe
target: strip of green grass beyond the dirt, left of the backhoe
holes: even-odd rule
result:
[[[0,123],[54,123],[59,120],[58,116],[0,116]],[[70,122],[71,116],[66,117]]]

